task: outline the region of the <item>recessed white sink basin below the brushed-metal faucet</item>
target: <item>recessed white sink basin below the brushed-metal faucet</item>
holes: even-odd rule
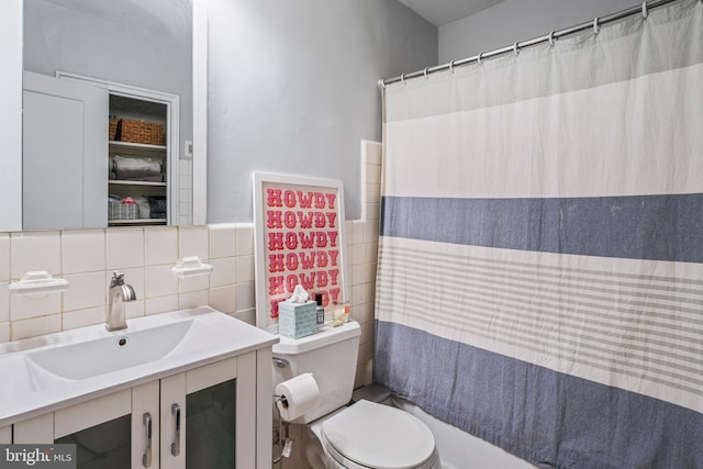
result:
[[[133,333],[123,330],[109,337],[29,353],[26,358],[30,366],[57,377],[87,379],[164,358],[182,343],[192,326],[190,320]],[[36,368],[31,371],[38,388],[51,386],[51,381],[42,382]]]

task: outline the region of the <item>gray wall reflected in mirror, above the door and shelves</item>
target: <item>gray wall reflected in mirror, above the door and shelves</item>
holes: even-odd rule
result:
[[[191,0],[24,0],[25,70],[178,94],[181,142],[192,141],[191,36]]]

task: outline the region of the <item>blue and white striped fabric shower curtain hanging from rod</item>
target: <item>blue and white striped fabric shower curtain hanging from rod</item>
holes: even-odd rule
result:
[[[375,380],[537,465],[703,468],[703,4],[383,99]]]

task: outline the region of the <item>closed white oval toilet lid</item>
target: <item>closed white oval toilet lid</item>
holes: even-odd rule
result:
[[[377,469],[417,468],[435,450],[432,432],[417,417],[365,400],[326,420],[322,436],[343,457]]]

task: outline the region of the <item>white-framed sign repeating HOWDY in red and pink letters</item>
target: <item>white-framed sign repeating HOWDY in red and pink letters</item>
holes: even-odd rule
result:
[[[325,309],[348,299],[341,181],[254,174],[256,325],[276,333],[278,303],[302,286]]]

